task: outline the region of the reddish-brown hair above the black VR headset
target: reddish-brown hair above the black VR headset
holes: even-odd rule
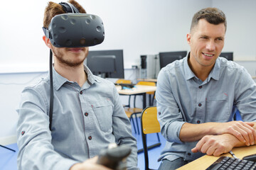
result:
[[[78,11],[80,13],[86,13],[85,9],[82,8],[82,6],[80,4],[78,4],[77,1],[69,0],[68,2],[70,4],[73,4],[73,6],[75,6],[75,8],[78,8]],[[65,13],[65,11],[63,10],[63,6],[61,6],[60,4],[56,4],[55,2],[49,1],[48,6],[46,6],[46,10],[44,12],[43,27],[48,28],[48,26],[50,25],[51,19],[54,16],[59,15],[61,13]]]

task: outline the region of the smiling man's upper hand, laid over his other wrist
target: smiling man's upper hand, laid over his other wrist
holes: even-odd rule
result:
[[[238,138],[245,145],[254,145],[256,141],[256,131],[252,126],[254,123],[242,122],[242,121],[232,121],[228,123],[220,123],[218,129],[216,129],[216,135],[222,135],[229,133]]]

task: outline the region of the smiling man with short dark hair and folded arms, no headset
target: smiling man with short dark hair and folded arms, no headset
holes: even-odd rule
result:
[[[191,52],[159,73],[156,106],[167,140],[159,169],[255,144],[256,84],[245,68],[219,57],[226,28],[223,11],[198,11],[187,34]],[[245,122],[233,121],[236,109]]]

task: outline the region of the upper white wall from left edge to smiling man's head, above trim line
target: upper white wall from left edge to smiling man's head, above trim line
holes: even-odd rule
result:
[[[16,69],[27,71],[32,65],[40,68],[48,66],[48,50],[42,40],[41,28],[47,2],[48,0],[14,0],[15,6],[0,11],[1,16],[6,16],[1,17],[4,26],[0,28],[0,72],[6,72],[9,68],[12,72]],[[211,5],[211,1],[203,0],[79,2],[87,13],[100,16],[105,25],[105,41],[91,49],[123,49],[126,68],[139,64],[140,55],[188,50],[185,38],[192,14],[199,8]],[[3,1],[2,6],[9,6],[9,3]],[[17,64],[18,67],[11,67],[10,64]]]

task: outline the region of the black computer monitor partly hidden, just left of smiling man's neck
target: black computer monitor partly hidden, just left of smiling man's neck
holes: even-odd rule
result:
[[[186,51],[159,52],[160,69],[175,60],[181,60],[183,57],[186,57],[186,55]]]

